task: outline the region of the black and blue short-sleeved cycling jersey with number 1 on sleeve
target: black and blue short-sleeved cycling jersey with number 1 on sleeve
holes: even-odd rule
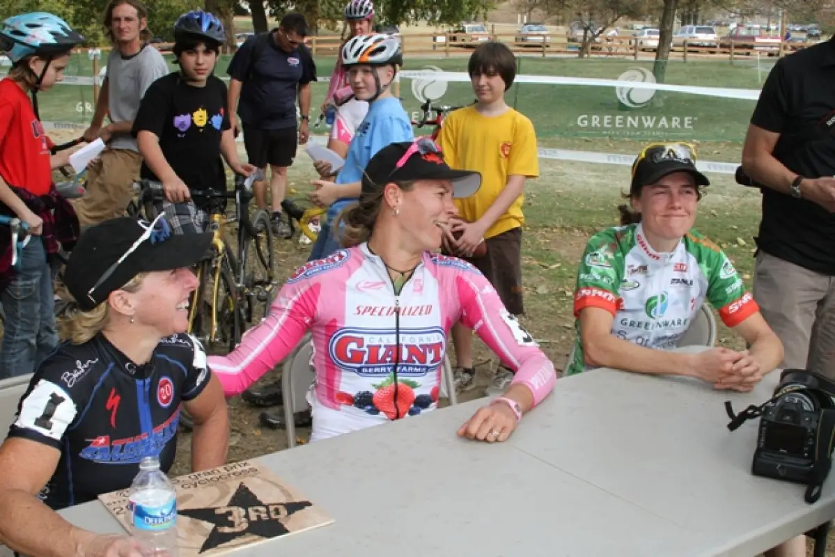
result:
[[[168,472],[177,450],[180,402],[197,397],[210,370],[190,335],[164,338],[137,366],[99,334],[64,343],[34,372],[9,437],[61,451],[39,497],[53,509],[126,489],[139,460],[158,455]]]

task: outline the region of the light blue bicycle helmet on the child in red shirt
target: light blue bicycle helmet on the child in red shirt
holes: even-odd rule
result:
[[[33,54],[63,54],[83,42],[80,33],[52,13],[22,13],[0,23],[0,49],[12,63]]]

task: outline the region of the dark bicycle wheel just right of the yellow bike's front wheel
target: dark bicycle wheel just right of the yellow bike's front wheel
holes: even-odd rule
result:
[[[247,323],[266,316],[276,291],[276,254],[270,216],[265,210],[256,210],[250,224],[251,228],[241,225],[237,267],[238,285],[243,286],[240,300]]]

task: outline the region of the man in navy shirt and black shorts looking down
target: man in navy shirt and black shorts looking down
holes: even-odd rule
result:
[[[291,236],[289,223],[281,220],[287,167],[293,164],[298,144],[307,142],[311,81],[316,80],[316,64],[304,44],[306,35],[304,16],[288,13],[278,28],[248,38],[228,69],[232,128],[237,134],[240,117],[250,164],[261,170],[270,165],[271,220],[276,235],[284,238]],[[296,99],[301,112],[298,126]],[[265,183],[256,182],[255,191],[256,203],[266,208]]]

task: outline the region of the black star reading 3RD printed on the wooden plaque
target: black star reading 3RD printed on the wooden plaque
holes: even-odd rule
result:
[[[200,553],[203,553],[246,534],[266,539],[287,534],[289,530],[281,523],[281,519],[310,506],[310,501],[263,503],[241,482],[225,506],[180,509],[177,514],[215,524],[200,548]]]

